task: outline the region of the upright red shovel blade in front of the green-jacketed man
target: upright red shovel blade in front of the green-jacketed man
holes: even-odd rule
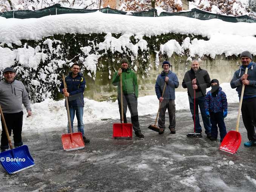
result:
[[[132,139],[133,124],[131,123],[114,123],[113,124],[114,139]]]

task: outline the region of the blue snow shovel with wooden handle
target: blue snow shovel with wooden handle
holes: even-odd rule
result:
[[[11,150],[4,151],[0,153],[0,163],[2,164],[3,168],[8,172],[8,174],[15,174],[20,172],[24,169],[28,169],[35,165],[33,158],[29,154],[28,146],[23,145],[13,149],[12,141],[9,136],[9,132],[5,123],[5,118],[3,116],[3,111],[0,106],[0,113],[1,119],[5,128],[5,133],[7,139],[9,141],[9,146]]]

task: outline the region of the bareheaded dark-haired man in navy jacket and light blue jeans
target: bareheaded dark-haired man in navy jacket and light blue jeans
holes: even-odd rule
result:
[[[85,91],[85,77],[80,73],[80,66],[77,63],[74,63],[71,66],[71,72],[69,72],[68,76],[65,77],[66,89],[64,89],[63,82],[60,84],[60,92],[68,97],[68,106],[71,120],[72,132],[73,129],[73,121],[76,114],[77,118],[77,129],[78,132],[81,132],[83,135],[83,141],[85,143],[90,142],[84,135],[83,130],[83,92]],[[66,103],[65,103],[66,106]],[[69,126],[69,125],[68,125]],[[69,128],[68,128],[69,133]]]

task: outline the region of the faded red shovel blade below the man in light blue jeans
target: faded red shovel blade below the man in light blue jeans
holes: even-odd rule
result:
[[[83,135],[81,132],[63,134],[61,136],[63,149],[65,151],[72,151],[85,148],[83,142]]]

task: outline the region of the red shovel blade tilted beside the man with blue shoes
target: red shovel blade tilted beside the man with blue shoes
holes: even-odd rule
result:
[[[237,131],[229,131],[224,137],[219,149],[231,154],[236,153],[241,144],[241,134]]]

